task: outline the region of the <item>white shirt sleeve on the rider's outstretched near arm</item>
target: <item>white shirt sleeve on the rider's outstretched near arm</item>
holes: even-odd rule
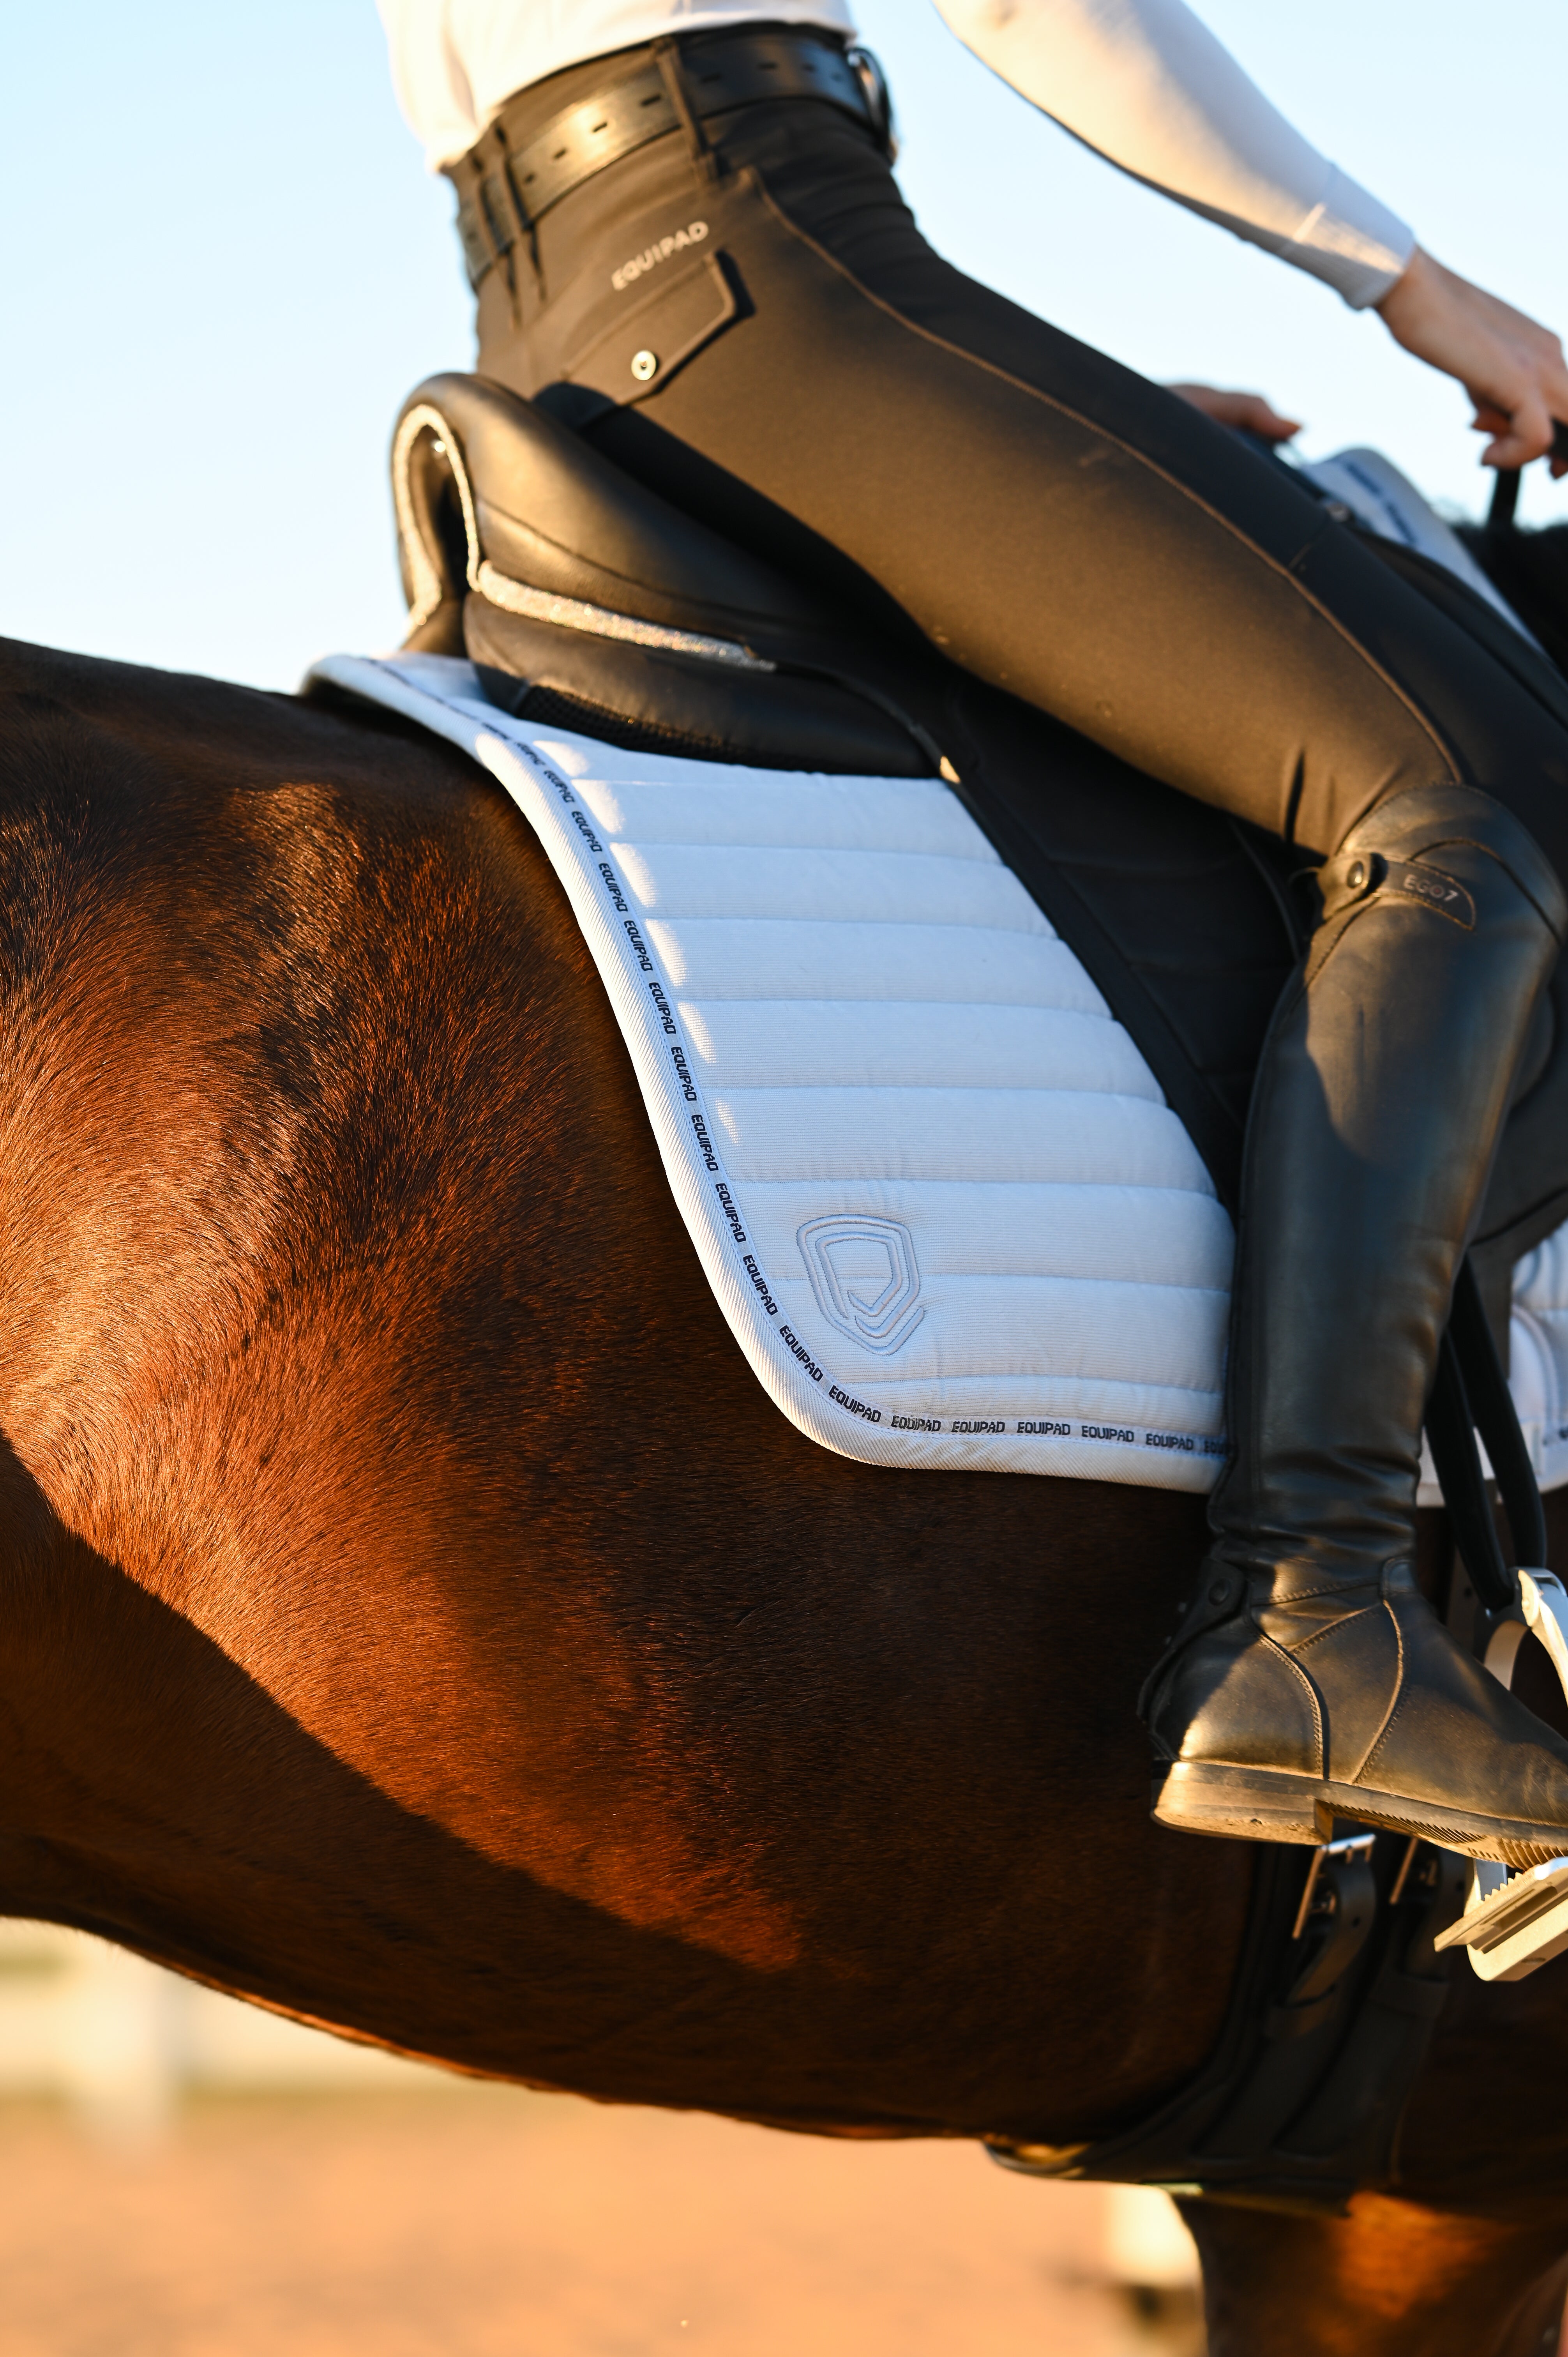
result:
[[[1415,236],[1290,127],[1181,0],[936,0],[967,49],[1108,163],[1353,306]]]

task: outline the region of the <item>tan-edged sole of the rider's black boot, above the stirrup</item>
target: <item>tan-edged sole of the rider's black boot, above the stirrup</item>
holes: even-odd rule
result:
[[[1221,1841],[1316,1846],[1335,1838],[1335,1817],[1349,1817],[1507,1867],[1540,1867],[1568,1855],[1568,1827],[1559,1831],[1521,1817],[1478,1817],[1394,1791],[1325,1784],[1320,1777],[1290,1775],[1287,1768],[1228,1768],[1219,1761],[1172,1761],[1155,1768],[1153,1815],[1181,1834],[1214,1834]]]

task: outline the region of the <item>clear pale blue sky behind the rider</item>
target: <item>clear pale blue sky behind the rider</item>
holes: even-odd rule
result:
[[[526,0],[521,0],[526,5]],[[1198,0],[1269,97],[1443,262],[1568,328],[1563,0]],[[1478,514],[1460,387],[986,73],[929,0],[861,0],[931,243],[1151,377],[1266,391]],[[78,0],[0,35],[0,634],[290,688],[387,648],[387,438],[472,365],[453,198],[373,0]],[[1523,514],[1568,519],[1526,478]]]

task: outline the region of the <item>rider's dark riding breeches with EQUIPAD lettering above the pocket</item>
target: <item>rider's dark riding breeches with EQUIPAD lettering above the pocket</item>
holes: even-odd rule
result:
[[[644,61],[552,78],[535,120]],[[1148,775],[1318,853],[1401,787],[1476,785],[1568,874],[1559,674],[941,262],[846,113],[755,104],[625,156],[490,269],[479,323],[483,375],[644,483]]]

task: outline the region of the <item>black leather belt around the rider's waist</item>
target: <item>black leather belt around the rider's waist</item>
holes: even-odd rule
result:
[[[674,47],[681,92],[696,120],[769,99],[818,99],[854,115],[875,139],[887,137],[868,78],[828,33],[769,26],[712,33]],[[453,172],[460,193],[457,236],[474,285],[514,245],[507,210],[526,231],[594,172],[681,127],[658,59],[620,73],[587,99],[573,99],[542,125],[538,115],[540,92],[521,90]]]

